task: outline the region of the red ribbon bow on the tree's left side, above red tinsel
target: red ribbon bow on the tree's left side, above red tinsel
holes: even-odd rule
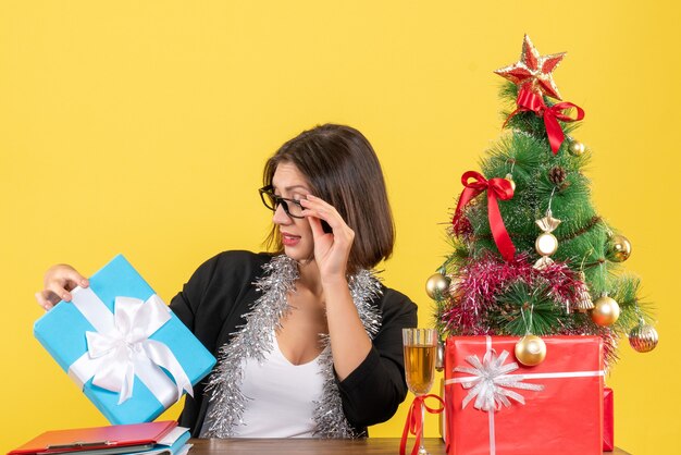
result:
[[[474,181],[469,182],[470,179],[474,179]],[[512,260],[516,255],[516,247],[508,235],[508,231],[506,231],[506,225],[504,224],[504,219],[502,218],[497,202],[497,198],[508,200],[513,197],[513,188],[510,182],[506,179],[490,179],[487,181],[481,173],[468,171],[461,175],[461,183],[466,188],[461,192],[461,196],[459,196],[459,204],[451,219],[451,224],[455,230],[463,214],[463,207],[480,193],[486,190],[487,218],[490,220],[490,229],[492,230],[494,243],[504,259],[507,261]]]

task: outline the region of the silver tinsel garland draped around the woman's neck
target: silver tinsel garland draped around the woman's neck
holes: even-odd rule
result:
[[[206,388],[210,403],[201,438],[231,438],[234,435],[234,427],[243,423],[246,402],[249,399],[242,393],[244,360],[264,360],[265,354],[273,348],[272,334],[281,328],[281,319],[290,311],[286,295],[296,291],[296,261],[282,255],[272,258],[262,268],[263,276],[253,283],[262,295],[256,300],[251,311],[244,315],[246,324],[220,348],[220,361]],[[349,278],[348,285],[364,330],[373,339],[381,328],[381,315],[371,302],[381,295],[381,284],[371,271],[360,270]],[[314,403],[315,435],[357,438],[360,434],[357,434],[343,414],[340,394],[334,377],[330,337],[326,334],[320,336],[323,351],[319,361],[324,383],[322,401]]]

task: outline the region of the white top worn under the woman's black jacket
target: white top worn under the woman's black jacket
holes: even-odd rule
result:
[[[234,427],[235,438],[312,438],[314,403],[322,398],[323,378],[319,357],[293,365],[273,334],[272,351],[262,364],[244,361],[242,392],[247,396],[244,425]]]

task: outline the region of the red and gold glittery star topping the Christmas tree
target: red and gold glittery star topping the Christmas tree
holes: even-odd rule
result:
[[[496,70],[495,73],[516,84],[519,90],[530,89],[537,95],[546,95],[560,100],[562,98],[560,98],[552,73],[565,54],[566,52],[560,52],[542,57],[530,37],[525,35],[520,60],[512,65]]]

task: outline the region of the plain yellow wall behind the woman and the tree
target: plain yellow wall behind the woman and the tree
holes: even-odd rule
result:
[[[543,54],[569,51],[555,76],[586,111],[577,136],[594,150],[593,200],[631,239],[627,269],[657,308],[659,347],[640,355],[622,340],[607,380],[617,444],[678,453],[680,12],[672,1],[2,0],[0,453],[106,423],[33,337],[46,268],[88,274],[123,253],[170,300],[205,259],[260,248],[262,164],[318,123],[354,125],[374,145],[398,229],[385,282],[430,324],[423,284],[448,250],[461,173],[499,135],[492,71],[517,61],[523,33]],[[406,410],[372,435],[397,436]]]

